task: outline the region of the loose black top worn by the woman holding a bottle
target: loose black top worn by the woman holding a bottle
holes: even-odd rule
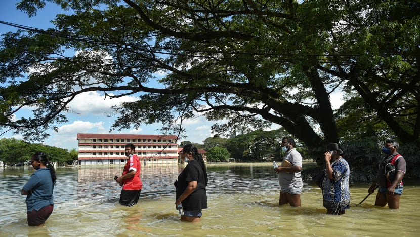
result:
[[[193,193],[182,201],[184,213],[188,213],[186,211],[199,213],[202,209],[207,208],[207,193],[205,191],[204,172],[196,159],[190,160],[178,176],[178,182],[176,184],[177,199],[184,193],[188,186],[188,181],[197,181],[197,187]]]

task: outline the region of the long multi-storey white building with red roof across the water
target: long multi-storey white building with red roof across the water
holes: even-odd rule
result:
[[[78,133],[80,165],[125,164],[125,144],[133,143],[142,164],[177,164],[175,135]]]

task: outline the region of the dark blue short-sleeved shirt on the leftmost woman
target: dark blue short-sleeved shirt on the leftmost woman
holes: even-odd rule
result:
[[[29,193],[26,196],[26,210],[39,211],[43,207],[54,205],[53,189],[50,168],[40,168],[35,171],[23,186],[23,190]]]

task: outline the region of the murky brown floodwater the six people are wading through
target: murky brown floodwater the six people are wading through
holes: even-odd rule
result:
[[[208,209],[200,222],[181,222],[173,182],[184,166],[143,166],[133,207],[118,203],[113,180],[122,166],[57,168],[54,211],[44,227],[26,221],[23,185],[32,167],[0,169],[0,236],[418,236],[420,185],[404,182],[400,209],[375,207],[369,184],[350,186],[351,208],[326,215],[321,190],[305,181],[302,206],[278,206],[271,163],[207,166]],[[375,193],[376,194],[376,193]]]

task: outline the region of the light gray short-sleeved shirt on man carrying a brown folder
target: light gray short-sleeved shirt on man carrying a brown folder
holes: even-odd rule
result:
[[[296,150],[296,148],[287,151],[283,162],[284,160],[289,161],[293,166],[302,167],[302,155]],[[278,173],[278,182],[281,188],[299,188],[303,186],[300,171],[290,174],[286,172],[280,172]]]

